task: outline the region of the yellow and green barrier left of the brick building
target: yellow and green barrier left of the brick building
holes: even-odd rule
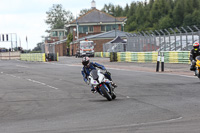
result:
[[[45,54],[44,53],[32,53],[32,54],[21,54],[20,60],[24,61],[40,61],[45,62]]]

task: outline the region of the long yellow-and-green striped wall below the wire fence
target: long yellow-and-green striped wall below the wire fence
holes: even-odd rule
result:
[[[163,51],[165,63],[189,64],[190,51]],[[95,57],[108,57],[117,62],[157,62],[158,52],[96,52]]]

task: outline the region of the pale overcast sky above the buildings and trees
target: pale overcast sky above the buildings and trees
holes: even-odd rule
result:
[[[0,34],[12,33],[13,47],[20,45],[23,49],[33,49],[41,36],[47,36],[45,32],[48,25],[45,23],[46,12],[53,4],[62,4],[63,9],[71,11],[76,16],[81,9],[91,8],[92,0],[0,0]],[[132,1],[142,0],[95,0],[96,8],[101,10],[104,4],[112,3],[130,5]],[[17,37],[16,37],[17,36]],[[28,44],[26,43],[26,36]],[[10,40],[11,37],[9,37]],[[11,47],[11,42],[0,42],[0,47]]]

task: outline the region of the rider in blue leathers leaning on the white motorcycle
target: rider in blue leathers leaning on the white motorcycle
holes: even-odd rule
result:
[[[87,56],[83,57],[82,64],[83,64],[83,68],[81,70],[81,73],[83,75],[83,80],[85,81],[86,84],[89,84],[88,76],[89,76],[89,74],[90,74],[90,72],[92,70],[94,70],[94,69],[96,70],[96,68],[99,68],[101,70],[105,70],[106,71],[106,68],[103,65],[100,65],[100,64],[98,64],[96,62],[95,63],[90,62],[90,58],[87,57]],[[117,87],[117,85],[114,82],[112,82],[112,79],[111,79],[110,75],[111,74],[109,72],[107,72],[107,71],[104,73],[104,76],[111,81],[111,85],[115,88],[115,87]],[[94,87],[93,86],[91,86],[91,87],[92,87],[91,91],[95,92]]]

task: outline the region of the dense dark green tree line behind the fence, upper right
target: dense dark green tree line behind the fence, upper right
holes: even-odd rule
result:
[[[132,2],[124,8],[105,4],[102,11],[126,16],[127,32],[200,25],[200,0],[149,0]]]

